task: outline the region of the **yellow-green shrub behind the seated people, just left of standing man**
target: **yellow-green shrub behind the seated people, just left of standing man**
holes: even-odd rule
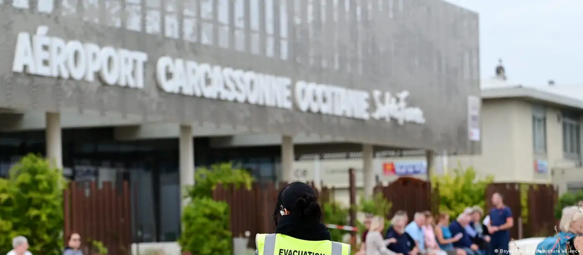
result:
[[[476,171],[470,167],[463,169],[459,166],[447,175],[433,176],[433,186],[438,185],[440,197],[440,211],[455,218],[468,206],[485,207],[484,194],[486,187],[494,180],[488,175],[486,179],[477,179]]]

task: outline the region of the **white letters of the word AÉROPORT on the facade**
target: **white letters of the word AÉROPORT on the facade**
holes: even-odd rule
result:
[[[144,87],[147,54],[128,49],[99,47],[77,40],[47,36],[48,27],[39,26],[36,34],[20,32],[12,71],[32,75],[62,77],[93,82],[96,73],[110,85]]]

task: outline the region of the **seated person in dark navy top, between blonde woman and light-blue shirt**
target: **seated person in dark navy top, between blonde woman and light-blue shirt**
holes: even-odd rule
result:
[[[415,240],[405,232],[406,216],[395,214],[392,218],[392,226],[387,229],[385,239],[392,239],[396,242],[391,242],[387,245],[389,250],[403,255],[417,255],[419,249],[416,247]]]

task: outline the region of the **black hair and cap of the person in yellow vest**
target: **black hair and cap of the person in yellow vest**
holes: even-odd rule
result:
[[[310,185],[303,182],[292,182],[279,191],[278,203],[273,210],[273,224],[278,225],[283,208],[301,220],[320,221],[322,218],[318,196]]]

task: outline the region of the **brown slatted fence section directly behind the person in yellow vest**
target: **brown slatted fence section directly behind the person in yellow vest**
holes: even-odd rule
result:
[[[250,236],[254,237],[257,233],[273,233],[275,231],[272,215],[279,189],[286,185],[286,182],[253,183],[250,190],[219,185],[213,191],[213,199],[226,201],[229,204],[230,228],[234,238],[244,237],[245,231],[249,231]],[[310,185],[313,186],[313,183]],[[324,187],[318,196],[321,202],[327,201],[330,192]],[[255,247],[255,242],[249,242],[249,246]]]

